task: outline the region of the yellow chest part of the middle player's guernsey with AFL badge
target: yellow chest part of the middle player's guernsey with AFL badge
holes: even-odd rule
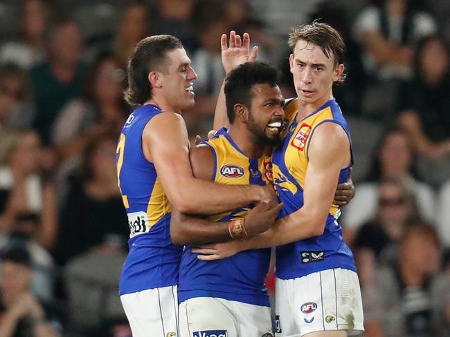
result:
[[[203,142],[210,146],[215,157],[213,181],[229,185],[265,185],[272,183],[271,157],[262,155],[259,159],[249,158],[235,144],[225,128],[217,131],[215,137]],[[233,209],[210,216],[213,221],[228,221],[244,218],[251,207]]]

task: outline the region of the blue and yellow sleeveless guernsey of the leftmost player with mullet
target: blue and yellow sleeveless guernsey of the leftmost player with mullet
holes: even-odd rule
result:
[[[120,193],[127,210],[129,253],[123,265],[119,293],[134,293],[176,285],[182,247],[170,240],[170,204],[154,164],[143,153],[142,134],[152,117],[162,113],[145,105],[129,115],[116,151]]]

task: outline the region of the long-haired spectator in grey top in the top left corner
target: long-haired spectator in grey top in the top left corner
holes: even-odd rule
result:
[[[44,35],[50,17],[51,8],[47,0],[24,0],[21,7],[19,39],[1,46],[0,62],[12,62],[28,69],[43,61],[46,54]]]

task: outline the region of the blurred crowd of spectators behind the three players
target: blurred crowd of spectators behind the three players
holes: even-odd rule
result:
[[[334,93],[357,195],[340,223],[366,336],[450,336],[449,15],[440,0],[1,0],[0,336],[131,336],[114,158],[136,43],[181,39],[198,75],[184,117],[204,137],[224,79],[220,35],[249,32],[288,98],[289,28],[318,18],[348,46]]]

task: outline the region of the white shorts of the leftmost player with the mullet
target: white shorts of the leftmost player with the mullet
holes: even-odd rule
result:
[[[177,286],[147,289],[120,296],[133,337],[176,337]]]

